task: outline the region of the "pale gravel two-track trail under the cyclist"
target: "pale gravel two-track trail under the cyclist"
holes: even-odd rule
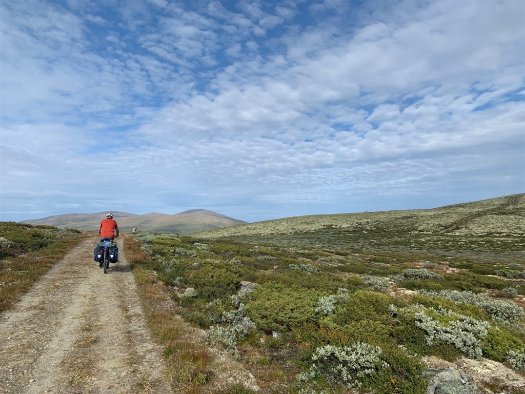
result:
[[[104,275],[83,241],[0,314],[0,393],[170,393],[122,241]]]

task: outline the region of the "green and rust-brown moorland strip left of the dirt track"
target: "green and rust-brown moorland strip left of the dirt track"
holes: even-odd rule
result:
[[[0,311],[81,238],[78,230],[0,222]]]

